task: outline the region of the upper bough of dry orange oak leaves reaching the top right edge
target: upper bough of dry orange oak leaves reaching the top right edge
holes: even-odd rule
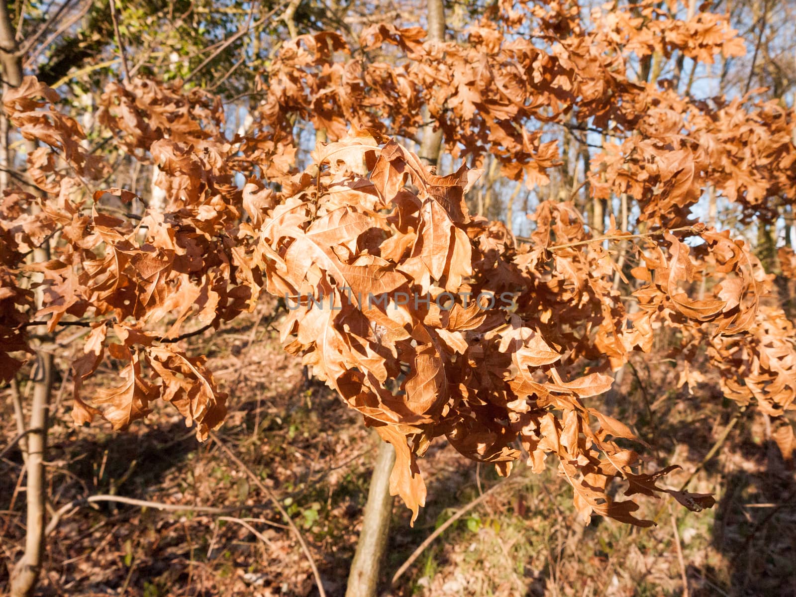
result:
[[[349,125],[416,139],[430,117],[454,158],[480,166],[491,154],[503,176],[533,188],[560,157],[540,124],[560,124],[607,135],[588,173],[595,197],[628,193],[651,224],[683,225],[708,184],[750,215],[775,213],[794,197],[793,111],[774,101],[750,106],[754,92],[693,100],[671,81],[629,74],[631,55],[680,50],[708,63],[743,55],[727,18],[672,19],[652,0],[609,8],[595,10],[586,30],[577,7],[497,2],[463,42],[423,42],[418,27],[373,25],[356,57],[337,33],[297,37],[263,85],[259,149],[295,154],[296,117],[330,140]]]

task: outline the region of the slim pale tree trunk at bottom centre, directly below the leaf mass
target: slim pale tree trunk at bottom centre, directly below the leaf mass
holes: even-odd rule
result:
[[[357,552],[353,556],[345,597],[374,597],[379,583],[381,558],[387,547],[387,538],[392,518],[392,496],[390,474],[396,462],[396,451],[392,443],[379,439],[379,455],[373,476],[370,478],[368,502],[362,518],[362,530],[357,541]]]

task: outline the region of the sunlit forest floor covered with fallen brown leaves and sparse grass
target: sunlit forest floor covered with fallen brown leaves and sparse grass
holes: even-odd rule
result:
[[[310,545],[326,594],[336,597],[345,593],[377,439],[284,353],[272,310],[263,304],[234,325],[185,341],[185,349],[208,355],[229,392],[220,441],[281,501]],[[68,350],[57,360],[61,376]],[[678,390],[677,370],[662,357],[633,363],[611,397],[615,416],[634,422],[655,447],[640,450],[645,470],[683,466],[665,478],[667,486],[679,488],[700,467],[689,490],[716,494],[713,509],[692,513],[649,498],[637,514],[657,521],[653,528],[599,517],[584,526],[552,463],[540,475],[517,466],[513,481],[451,525],[391,587],[424,539],[501,482],[438,440],[420,461],[428,499],[413,528],[396,499],[380,595],[796,595],[796,475],[767,440],[763,417],[740,418],[700,466],[737,406],[707,384],[693,396]],[[92,384],[115,377],[105,369]],[[73,427],[71,391],[60,377],[47,458],[54,509],[114,494],[228,512],[104,501],[69,510],[47,540],[41,595],[318,595],[283,517],[217,443],[197,442],[168,404],[154,405],[146,422],[124,432],[104,422]],[[17,430],[10,391],[2,392],[5,447]],[[18,449],[0,461],[0,594],[23,545],[22,470]]]

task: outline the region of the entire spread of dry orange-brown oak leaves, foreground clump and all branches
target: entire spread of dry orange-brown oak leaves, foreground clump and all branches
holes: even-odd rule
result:
[[[634,472],[638,455],[616,439],[637,439],[600,412],[598,396],[631,352],[649,352],[656,331],[673,327],[682,383],[700,381],[689,354],[708,345],[725,394],[774,416],[783,453],[793,451],[782,415],[796,392],[794,329],[771,275],[743,241],[688,218],[707,185],[758,211],[772,197],[792,201],[794,116],[630,81],[627,52],[685,49],[712,60],[741,49],[716,15],[669,22],[653,3],[639,7],[595,14],[603,25],[585,32],[556,3],[499,2],[499,18],[470,28],[466,44],[423,43],[421,29],[367,29],[364,55],[387,45],[392,64],[346,57],[335,33],[298,37],[273,64],[252,132],[233,139],[207,92],[111,84],[100,123],[123,150],[158,166],[166,195],[164,209],[140,219],[111,215],[138,199],[104,187],[108,166],[80,125],[53,107],[52,89],[26,78],[3,107],[41,143],[29,154],[38,190],[6,189],[0,205],[0,377],[10,380],[25,359],[31,322],[49,330],[91,322],[72,365],[76,423],[102,416],[120,429],[160,398],[205,438],[224,419],[226,396],[204,359],[174,341],[185,322],[217,326],[267,290],[297,303],[282,325],[285,348],[396,447],[391,491],[415,516],[426,497],[417,458],[441,435],[501,474],[517,458],[535,471],[556,458],[584,517],[653,524],[634,517],[632,499],[609,495],[615,478],[626,497],[666,492],[691,509],[712,505],[657,485],[671,466]],[[509,34],[529,14],[533,35]],[[589,178],[597,197],[633,197],[648,224],[643,235],[607,232],[643,263],[631,272],[638,309],[615,287],[625,275],[615,251],[571,203],[541,203],[532,242],[517,244],[502,224],[468,213],[478,170],[437,176],[384,135],[416,135],[423,105],[456,158],[477,165],[490,152],[505,176],[529,185],[547,181],[559,155],[533,123],[574,119],[611,135]],[[304,172],[294,165],[296,115],[331,139]],[[30,263],[44,243],[52,259]],[[490,301],[502,295],[510,306]],[[121,363],[123,382],[88,400],[81,384],[108,357]]]

